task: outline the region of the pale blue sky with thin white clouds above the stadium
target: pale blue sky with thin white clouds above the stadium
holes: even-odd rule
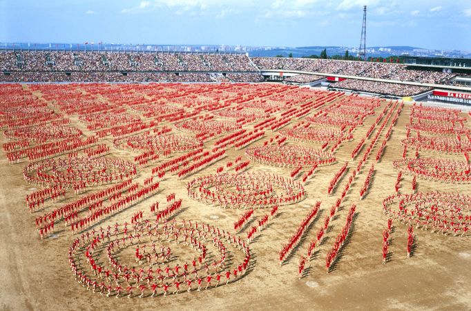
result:
[[[471,50],[471,0],[0,0],[0,41]]]

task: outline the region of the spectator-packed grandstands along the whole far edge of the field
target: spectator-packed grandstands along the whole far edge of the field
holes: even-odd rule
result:
[[[246,53],[3,50],[3,82],[247,82],[470,106],[471,66],[249,57]],[[421,58],[419,58],[421,59]],[[407,61],[410,61],[407,59]],[[469,65],[469,64],[468,64]],[[445,94],[446,93],[446,94]],[[458,100],[456,100],[458,99]]]

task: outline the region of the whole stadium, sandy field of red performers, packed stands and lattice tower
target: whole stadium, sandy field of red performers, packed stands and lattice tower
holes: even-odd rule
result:
[[[468,310],[471,61],[358,55],[0,50],[2,308]]]

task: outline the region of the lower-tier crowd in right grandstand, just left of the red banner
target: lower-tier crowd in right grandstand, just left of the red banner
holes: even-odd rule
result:
[[[366,80],[347,79],[331,84],[330,88],[341,90],[352,90],[358,92],[369,92],[374,94],[409,97],[432,90],[425,86],[410,86],[407,84],[376,82]]]

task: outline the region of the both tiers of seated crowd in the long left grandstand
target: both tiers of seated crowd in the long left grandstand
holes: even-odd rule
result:
[[[247,54],[229,53],[1,51],[0,70],[5,82],[263,80]]]

